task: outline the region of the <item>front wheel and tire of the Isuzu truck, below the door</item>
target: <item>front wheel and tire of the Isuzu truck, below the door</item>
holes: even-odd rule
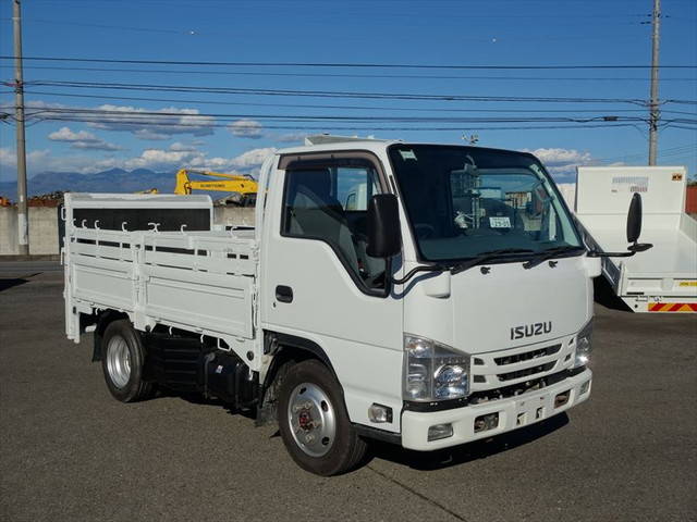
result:
[[[281,384],[278,420],[285,449],[310,473],[345,473],[366,455],[367,445],[348,420],[341,386],[317,360],[289,370]]]

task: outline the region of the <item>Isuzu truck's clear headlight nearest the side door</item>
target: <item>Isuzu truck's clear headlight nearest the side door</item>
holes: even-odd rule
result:
[[[433,401],[469,394],[469,355],[404,335],[404,399]]]

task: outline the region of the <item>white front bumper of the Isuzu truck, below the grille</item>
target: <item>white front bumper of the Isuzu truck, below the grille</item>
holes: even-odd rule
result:
[[[506,399],[444,411],[404,411],[402,413],[402,446],[407,449],[430,451],[528,426],[586,400],[590,396],[591,380],[592,372],[586,369],[543,389],[528,391]],[[587,389],[582,394],[582,386],[585,383],[588,383],[585,386]],[[555,406],[558,396],[565,391],[568,391],[568,399],[564,403]],[[489,413],[499,414],[498,426],[476,432],[475,420]],[[453,426],[453,435],[451,437],[428,440],[428,428],[430,426],[448,423]]]

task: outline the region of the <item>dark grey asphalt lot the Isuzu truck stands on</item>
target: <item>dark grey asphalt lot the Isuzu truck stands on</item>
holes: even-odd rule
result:
[[[0,263],[0,520],[697,520],[694,315],[598,306],[568,417],[320,478],[221,407],[114,401],[89,339],[64,337],[61,273],[37,269]]]

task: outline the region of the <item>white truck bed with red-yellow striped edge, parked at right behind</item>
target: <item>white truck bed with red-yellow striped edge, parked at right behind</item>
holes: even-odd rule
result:
[[[602,273],[635,312],[697,312],[697,221],[685,212],[684,166],[579,166],[575,214],[600,251],[623,247],[622,223],[634,194],[644,204],[643,238],[653,248],[604,258]]]

